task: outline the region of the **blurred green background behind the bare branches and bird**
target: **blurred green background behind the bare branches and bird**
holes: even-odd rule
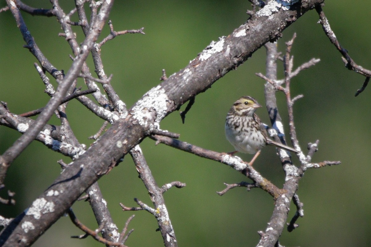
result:
[[[33,7],[49,9],[49,1],[24,1]],[[73,1],[60,1],[68,13]],[[0,7],[5,6],[4,0]],[[112,86],[130,107],[146,91],[160,83],[161,70],[167,75],[177,72],[202,51],[212,40],[227,36],[247,19],[248,1],[115,1],[110,19],[116,31],[144,27],[145,35],[126,34],[108,41],[102,47],[106,74],[113,74]],[[324,11],[342,46],[356,63],[371,68],[369,1],[357,4],[328,0]],[[88,15],[89,16],[89,15]],[[58,69],[67,71],[72,63],[71,50],[63,37],[58,37],[59,23],[54,17],[30,16],[23,13],[30,33],[45,56]],[[77,21],[76,14],[72,21]],[[294,106],[295,124],[303,150],[307,143],[320,140],[313,161],[340,160],[339,166],[308,170],[299,184],[298,195],[304,203],[304,218],[292,233],[284,231],[280,243],[285,246],[371,246],[371,135],[370,86],[357,98],[355,92],[364,77],[348,71],[341,56],[317,24],[318,15],[309,11],[292,24],[278,41],[285,51],[285,42],[293,33],[297,38],[292,54],[295,66],[312,57],[321,62],[292,80],[292,95],[304,94]],[[78,40],[83,40],[79,27],[73,27]],[[109,33],[106,27],[99,40]],[[0,100],[8,103],[13,113],[42,107],[49,100],[33,63],[35,57],[22,48],[24,41],[9,11],[0,13]],[[88,60],[92,64],[91,58]],[[90,67],[93,73],[93,66]],[[279,63],[282,77],[282,64]],[[211,89],[196,97],[185,124],[178,112],[161,122],[161,128],[181,134],[181,140],[216,150],[233,151],[224,137],[224,119],[232,103],[242,95],[264,102],[264,81],[255,73],[265,73],[265,49],[253,54],[246,63],[217,81]],[[49,78],[52,78],[48,75]],[[53,81],[55,84],[55,82]],[[79,84],[83,86],[82,80]],[[85,87],[84,87],[85,89]],[[287,119],[283,94],[278,94],[281,116]],[[182,110],[185,106],[182,107]],[[257,112],[268,123],[265,109]],[[96,133],[103,121],[76,100],[69,103],[68,119],[81,143]],[[52,124],[59,124],[54,117]],[[287,125],[287,124],[286,124]],[[287,127],[287,126],[286,126]],[[286,130],[286,133],[287,130]],[[20,136],[0,126],[0,153]],[[165,193],[168,211],[179,246],[255,246],[257,231],[265,230],[273,210],[273,200],[263,190],[235,188],[220,197],[216,191],[226,183],[248,181],[242,174],[214,162],[154,145],[146,139],[143,153],[157,183],[181,181],[187,186],[172,188]],[[237,154],[244,160],[251,156]],[[69,158],[33,142],[9,169],[6,189],[16,192],[16,206],[0,206],[0,214],[15,217],[28,207],[60,173],[62,158]],[[294,158],[295,164],[298,160]],[[266,147],[254,167],[277,186],[282,187],[284,174],[275,148]],[[137,206],[133,198],[151,204],[144,185],[138,178],[129,156],[111,173],[99,180],[102,192],[115,223],[121,230],[132,212],[122,212],[119,203]],[[1,196],[5,191],[1,191]],[[97,228],[88,203],[73,205],[76,216],[92,229]],[[292,205],[289,220],[295,213]],[[134,228],[128,246],[163,246],[157,222],[147,212],[135,212],[129,229]],[[34,246],[102,246],[92,238],[76,240],[82,234],[69,218],[62,217]]]

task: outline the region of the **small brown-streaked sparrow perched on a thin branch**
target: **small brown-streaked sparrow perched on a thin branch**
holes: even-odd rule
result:
[[[292,153],[299,153],[294,148],[285,146],[270,140],[259,117],[255,114],[257,108],[262,107],[256,99],[250,96],[243,96],[234,102],[229,110],[226,119],[226,137],[236,151],[229,154],[241,153],[255,154],[249,162],[253,164],[260,154],[262,147],[273,145]]]

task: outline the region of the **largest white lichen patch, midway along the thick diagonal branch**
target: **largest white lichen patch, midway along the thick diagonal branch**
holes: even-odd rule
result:
[[[165,89],[163,89],[161,85],[158,85],[144,94],[142,99],[138,100],[137,104],[132,109],[133,118],[138,120],[138,124],[141,126],[151,124],[151,126],[149,126],[151,131],[156,127],[152,124],[152,121],[160,123],[166,116],[168,101],[169,98],[165,93]],[[154,113],[155,119],[153,119]]]

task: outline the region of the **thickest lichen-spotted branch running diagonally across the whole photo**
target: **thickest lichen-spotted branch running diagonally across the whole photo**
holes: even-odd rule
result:
[[[266,42],[280,37],[302,14],[323,2],[301,1],[290,10],[252,17],[228,37],[212,42],[188,66],[148,91],[129,109],[127,116],[115,121],[85,153],[67,166],[32,206],[6,227],[0,236],[0,245],[32,244],[87,188],[158,128],[164,117],[207,90]]]

